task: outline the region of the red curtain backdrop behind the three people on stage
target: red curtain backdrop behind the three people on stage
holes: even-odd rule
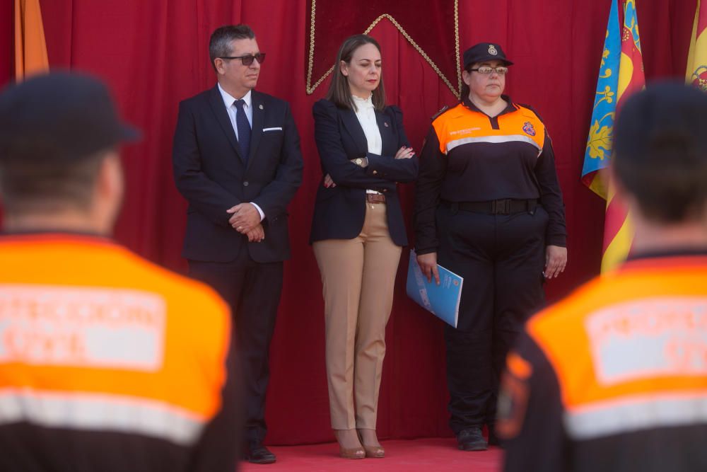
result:
[[[11,4],[0,0],[0,84],[10,78]],[[207,44],[219,25],[249,23],[261,50],[267,52],[258,88],[291,103],[305,159],[303,185],[291,205],[293,257],[286,263],[271,350],[267,403],[271,444],[332,439],[322,286],[307,244],[321,176],[311,108],[328,81],[314,95],[305,94],[309,4],[308,0],[41,2],[52,67],[103,77],[122,115],[144,132],[140,144],[124,149],[128,193],[117,225],[118,241],[176,270],[185,269],[180,246],[186,209],[175,190],[170,161],[177,103],[214,85]],[[508,93],[539,111],[554,142],[567,212],[569,263],[558,280],[547,284],[550,299],[599,270],[604,202],[580,183],[580,169],[609,4],[609,0],[460,1],[462,51],[482,40],[501,43],[515,62]],[[647,79],[684,76],[696,0],[637,4]],[[420,12],[419,21],[425,18]],[[388,102],[404,110],[409,138],[419,150],[430,117],[442,105],[453,103],[452,93],[390,22],[382,21],[371,34],[382,45]],[[428,51],[433,59],[448,53]],[[408,216],[413,190],[411,185],[402,188]],[[379,434],[383,438],[450,434],[442,326],[405,296],[406,270],[407,251],[387,329]],[[468,287],[473,289],[473,281]],[[194,326],[199,319],[194,313]]]

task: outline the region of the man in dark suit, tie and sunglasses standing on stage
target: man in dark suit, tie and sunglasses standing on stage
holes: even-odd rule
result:
[[[263,446],[268,351],[290,255],[286,207],[302,180],[302,155],[289,105],[253,90],[265,54],[250,27],[215,30],[209,55],[218,84],[180,103],[174,138],[175,183],[189,202],[182,255],[189,274],[233,311],[245,459],[268,464],[275,461]]]

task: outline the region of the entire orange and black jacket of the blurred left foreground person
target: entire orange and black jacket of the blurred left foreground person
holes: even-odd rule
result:
[[[228,471],[230,313],[98,236],[0,237],[0,471]]]

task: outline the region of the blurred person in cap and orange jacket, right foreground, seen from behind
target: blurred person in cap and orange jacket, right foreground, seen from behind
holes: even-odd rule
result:
[[[527,323],[498,405],[506,471],[707,470],[706,110],[672,83],[621,110],[632,254]]]

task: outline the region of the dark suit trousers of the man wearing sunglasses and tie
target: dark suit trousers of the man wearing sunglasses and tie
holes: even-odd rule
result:
[[[270,341],[282,292],[283,263],[257,263],[244,247],[228,263],[189,260],[189,275],[214,287],[230,305],[236,358],[229,374],[239,380],[245,399],[245,440],[262,442],[267,432]]]

